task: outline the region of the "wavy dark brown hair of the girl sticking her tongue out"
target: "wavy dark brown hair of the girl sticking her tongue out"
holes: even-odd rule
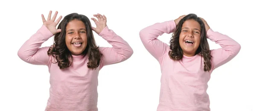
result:
[[[99,66],[102,54],[99,51],[99,46],[96,45],[94,40],[90,20],[88,17],[82,14],[72,13],[63,18],[58,26],[58,29],[61,29],[61,32],[55,34],[53,46],[49,48],[47,54],[52,55],[52,57],[57,60],[56,62],[52,63],[58,63],[60,69],[68,68],[73,63],[73,57],[65,43],[66,26],[72,20],[81,20],[86,27],[87,46],[82,54],[87,54],[89,57],[87,67],[96,69]]]

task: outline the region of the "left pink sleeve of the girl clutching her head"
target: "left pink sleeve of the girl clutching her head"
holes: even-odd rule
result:
[[[175,28],[176,23],[174,20],[170,20],[163,23],[155,23],[140,31],[140,39],[143,45],[157,60],[169,51],[168,44],[158,40],[157,37],[164,33],[170,34],[175,31]]]

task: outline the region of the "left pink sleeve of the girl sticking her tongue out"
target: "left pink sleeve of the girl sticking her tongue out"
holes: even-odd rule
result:
[[[53,34],[43,25],[20,47],[18,56],[26,63],[48,65],[50,56],[47,55],[47,51],[49,47],[39,47],[52,36]]]

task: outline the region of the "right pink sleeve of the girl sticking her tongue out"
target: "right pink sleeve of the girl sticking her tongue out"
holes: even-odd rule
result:
[[[103,39],[107,40],[112,47],[100,47],[99,50],[103,54],[100,68],[105,65],[120,63],[131,57],[133,49],[129,44],[118,36],[113,30],[106,26],[99,34]]]

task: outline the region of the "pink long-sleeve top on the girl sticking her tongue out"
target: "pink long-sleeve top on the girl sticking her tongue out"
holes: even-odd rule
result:
[[[87,68],[88,57],[73,55],[72,65],[64,70],[47,55],[49,47],[41,47],[42,43],[52,37],[52,33],[43,25],[27,40],[18,51],[23,61],[35,65],[47,65],[50,73],[49,99],[45,111],[98,111],[98,74],[105,66],[127,60],[133,54],[128,43],[105,27],[99,36],[103,37],[113,47],[100,47],[103,54],[96,70]]]

